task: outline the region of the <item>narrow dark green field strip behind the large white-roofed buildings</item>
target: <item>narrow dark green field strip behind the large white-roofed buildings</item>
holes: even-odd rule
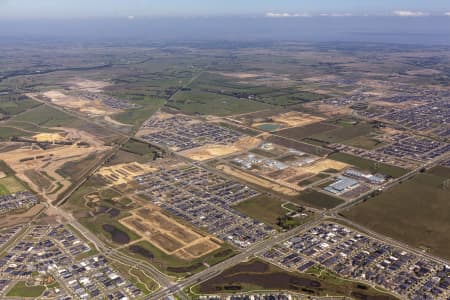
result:
[[[328,158],[341,161],[353,165],[359,169],[370,171],[373,173],[381,173],[391,177],[400,177],[405,175],[408,171],[396,166],[391,166],[383,163],[377,163],[370,159],[354,156],[346,153],[333,153]]]

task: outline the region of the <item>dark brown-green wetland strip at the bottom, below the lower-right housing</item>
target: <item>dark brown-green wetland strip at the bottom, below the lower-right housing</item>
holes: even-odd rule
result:
[[[261,260],[241,263],[217,277],[193,287],[198,294],[235,293],[254,290],[290,290],[311,296],[335,295],[353,299],[396,299],[363,284],[332,276],[287,272]],[[371,298],[373,296],[374,298]]]

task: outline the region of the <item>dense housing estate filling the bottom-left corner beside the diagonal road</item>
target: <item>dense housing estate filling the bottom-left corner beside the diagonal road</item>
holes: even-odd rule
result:
[[[105,257],[90,255],[91,250],[64,225],[36,225],[0,259],[0,279],[53,282],[44,296],[64,300],[141,295]]]

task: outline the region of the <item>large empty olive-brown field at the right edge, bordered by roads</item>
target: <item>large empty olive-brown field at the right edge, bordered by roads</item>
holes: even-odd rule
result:
[[[344,212],[395,239],[450,258],[450,169],[436,168]]]

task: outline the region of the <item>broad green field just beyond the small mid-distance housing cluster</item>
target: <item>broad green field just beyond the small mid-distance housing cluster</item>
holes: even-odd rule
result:
[[[179,92],[167,105],[189,114],[218,116],[241,114],[273,107],[256,101],[195,90]]]

